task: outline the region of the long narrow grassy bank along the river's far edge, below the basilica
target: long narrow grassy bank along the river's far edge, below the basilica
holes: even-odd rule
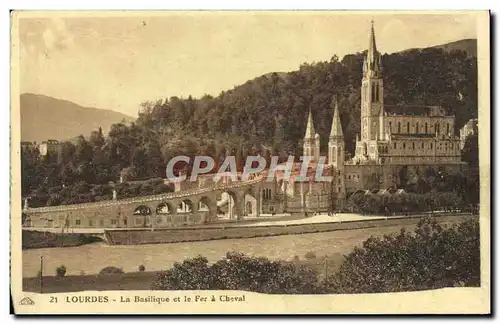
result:
[[[440,222],[460,221],[470,215],[434,216]],[[293,225],[246,226],[246,227],[212,227],[212,228],[184,228],[184,229],[156,229],[151,230],[112,230],[106,231],[110,244],[136,245],[156,243],[196,242],[222,239],[243,239],[279,235],[296,235],[307,233],[321,233],[337,230],[353,230],[374,227],[389,227],[398,225],[414,225],[422,216],[405,218],[374,219],[363,221],[310,223]]]

